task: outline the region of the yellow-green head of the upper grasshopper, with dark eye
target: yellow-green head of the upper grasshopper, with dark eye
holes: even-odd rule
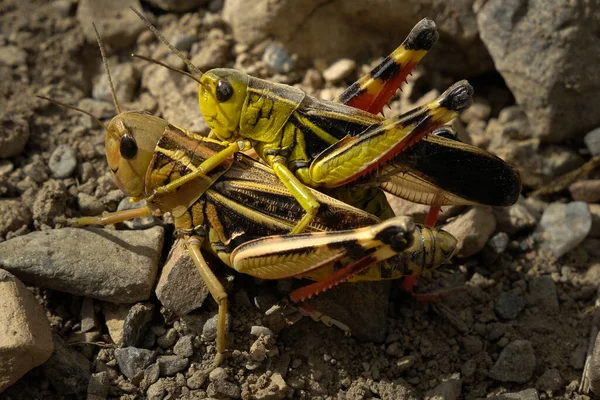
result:
[[[247,87],[248,75],[233,69],[212,69],[200,78],[200,111],[208,126],[221,140],[235,138]]]

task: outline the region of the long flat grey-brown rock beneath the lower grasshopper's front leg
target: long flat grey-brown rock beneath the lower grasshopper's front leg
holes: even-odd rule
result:
[[[156,279],[163,229],[66,228],[0,243],[0,268],[23,280],[116,303],[147,300]]]

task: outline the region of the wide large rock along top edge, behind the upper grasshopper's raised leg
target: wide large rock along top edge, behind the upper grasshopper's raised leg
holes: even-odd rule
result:
[[[492,67],[482,45],[474,0],[228,0],[223,18],[238,42],[256,44],[273,37],[301,58],[386,56],[411,28],[428,17],[438,24],[439,44],[427,57],[437,69],[464,77]]]

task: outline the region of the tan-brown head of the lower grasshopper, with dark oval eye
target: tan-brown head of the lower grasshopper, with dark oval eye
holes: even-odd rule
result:
[[[106,160],[119,189],[132,197],[144,194],[146,171],[167,121],[141,111],[114,117],[106,130]]]

